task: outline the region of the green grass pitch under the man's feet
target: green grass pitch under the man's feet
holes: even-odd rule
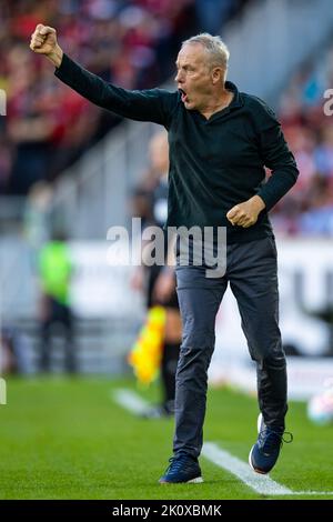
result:
[[[0,405],[0,499],[269,498],[204,458],[203,484],[159,484],[171,455],[173,421],[135,418],[112,401],[117,388],[158,398],[157,385],[140,390],[131,379],[8,380],[8,404]],[[254,398],[210,390],[204,440],[248,462],[256,415]],[[294,442],[283,446],[270,476],[293,491],[333,491],[333,426],[313,425],[305,404],[291,403],[287,429]]]

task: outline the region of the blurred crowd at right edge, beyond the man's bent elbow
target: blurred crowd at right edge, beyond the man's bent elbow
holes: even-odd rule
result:
[[[331,42],[320,60],[309,59],[282,92],[278,114],[301,174],[273,209],[280,234],[333,235],[333,116],[324,112],[324,92],[332,88]]]

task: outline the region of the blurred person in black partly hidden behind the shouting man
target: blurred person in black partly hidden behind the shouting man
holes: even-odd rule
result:
[[[167,132],[157,133],[151,139],[149,149],[150,172],[143,180],[139,192],[143,194],[143,188],[145,188],[145,208],[150,209],[147,212],[145,225],[155,225],[163,230],[164,252],[167,254],[168,234],[163,229],[168,218],[169,145]],[[140,214],[135,212],[135,215]],[[138,267],[132,280],[132,287],[135,290],[145,290],[148,309],[155,304],[161,304],[167,312],[160,367],[163,393],[162,403],[161,405],[150,408],[143,415],[145,418],[173,415],[175,372],[181,343],[181,318],[175,292],[174,268],[158,264]]]

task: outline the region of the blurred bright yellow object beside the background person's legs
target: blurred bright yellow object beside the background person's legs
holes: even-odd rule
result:
[[[163,307],[152,307],[148,311],[145,323],[129,354],[139,382],[150,384],[159,374],[165,330],[167,312]]]

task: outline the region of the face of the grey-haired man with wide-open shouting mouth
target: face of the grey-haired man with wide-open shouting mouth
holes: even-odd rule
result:
[[[178,54],[175,82],[189,110],[204,109],[211,98],[214,77],[206,62],[206,52],[200,43],[188,43]]]

